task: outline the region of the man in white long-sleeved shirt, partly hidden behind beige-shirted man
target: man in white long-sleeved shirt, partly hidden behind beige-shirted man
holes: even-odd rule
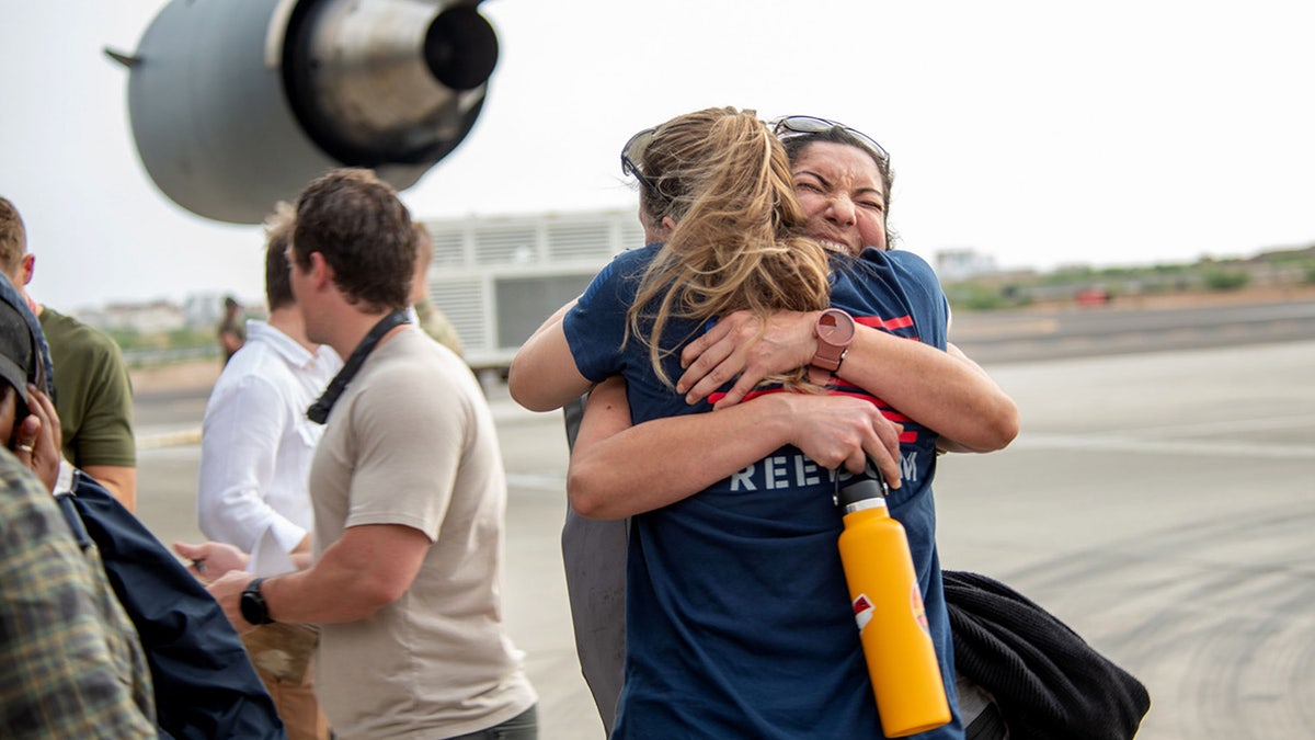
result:
[[[246,344],[224,366],[201,427],[201,532],[250,553],[247,570],[262,575],[295,570],[292,553],[309,552],[314,515],[306,477],[323,427],[306,419],[306,408],[342,367],[333,349],[306,338],[288,279],[292,226],[292,207],[280,203],[266,225],[270,320],[247,320]],[[204,577],[205,558],[213,553],[201,548],[178,545]],[[287,637],[274,635],[276,641]],[[274,647],[292,652],[289,645]],[[300,679],[287,670],[276,673],[251,640],[247,649],[289,740],[327,740],[329,723],[316,702],[313,672],[308,668]]]

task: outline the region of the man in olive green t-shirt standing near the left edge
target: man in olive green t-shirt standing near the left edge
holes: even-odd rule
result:
[[[137,508],[133,386],[124,353],[108,334],[42,305],[26,292],[36,270],[22,217],[0,198],[0,271],[41,321],[55,366],[63,454],[129,511]]]

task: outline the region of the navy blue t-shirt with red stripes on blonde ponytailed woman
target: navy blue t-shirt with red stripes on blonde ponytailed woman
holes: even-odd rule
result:
[[[698,413],[663,384],[648,348],[626,337],[626,312],[659,245],[618,255],[563,323],[580,373],[623,375],[631,419]],[[914,254],[869,249],[836,257],[831,305],[859,323],[945,348],[948,304]],[[702,325],[672,321],[661,346],[668,377]],[[928,628],[955,715],[917,737],[961,739],[953,656],[935,546],[936,433],[852,386],[903,424],[903,523]],[[746,403],[752,403],[747,400]],[[698,465],[698,460],[682,461]],[[844,474],[847,477],[847,474]],[[794,446],[671,506],[635,516],[627,556],[626,672],[613,737],[881,737],[836,540],[835,478]]]

